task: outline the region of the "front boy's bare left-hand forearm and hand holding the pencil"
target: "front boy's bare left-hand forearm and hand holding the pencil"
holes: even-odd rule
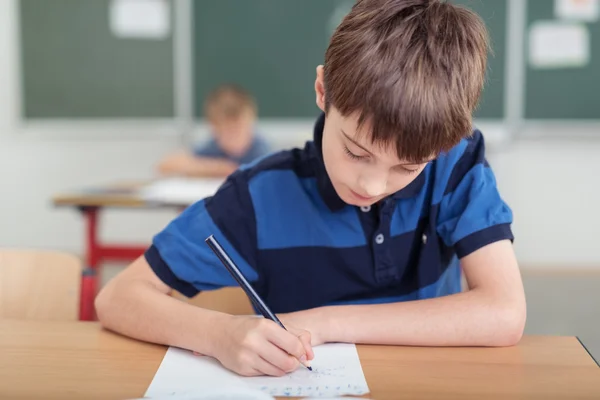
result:
[[[296,369],[299,359],[314,357],[306,331],[195,307],[169,296],[170,291],[140,257],[96,297],[98,319],[135,339],[214,357],[241,375],[282,376]]]

